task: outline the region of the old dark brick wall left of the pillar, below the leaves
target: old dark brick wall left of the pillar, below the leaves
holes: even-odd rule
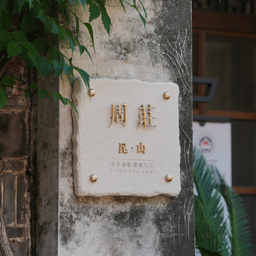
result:
[[[10,68],[7,72],[11,71],[19,78],[16,86],[28,88],[31,74],[25,71],[22,60],[15,60]],[[8,106],[0,110],[0,156],[5,162],[0,175],[0,203],[15,256],[33,255],[31,231],[35,232],[35,229],[30,223],[36,214],[33,184],[36,166],[36,156],[33,155],[36,129],[33,129],[36,121],[31,119],[33,97],[32,100],[26,99],[23,91],[8,88]],[[1,162],[1,169],[2,166]]]

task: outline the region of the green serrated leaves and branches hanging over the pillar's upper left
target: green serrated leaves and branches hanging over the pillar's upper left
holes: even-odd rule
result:
[[[124,3],[137,10],[145,26],[147,13],[140,0],[138,1],[143,8],[145,18],[140,13],[135,0],[132,0],[133,4],[124,0],[119,1],[124,12]],[[62,28],[59,18],[57,15],[54,15],[56,6],[62,13],[62,17],[68,22],[70,20],[69,15],[74,16],[76,20],[76,35],[73,35],[68,28]],[[77,7],[83,7],[85,12],[86,6],[88,6],[87,9],[90,13],[89,22],[84,22],[75,12],[75,8]],[[71,50],[72,56],[77,46],[80,55],[86,52],[92,60],[90,52],[78,39],[80,33],[79,28],[80,24],[83,24],[87,28],[95,52],[91,22],[99,17],[101,17],[102,24],[109,35],[112,24],[105,8],[105,1],[102,0],[2,0],[0,1],[0,52],[7,53],[7,57],[5,56],[7,63],[21,55],[27,70],[31,68],[38,69],[40,73],[39,78],[53,73],[53,77],[60,76],[63,83],[62,76],[64,74],[70,75],[73,78],[74,71],[76,71],[89,90],[89,74],[85,70],[73,65],[72,57],[69,58],[64,53],[60,52],[60,50],[47,39],[49,37],[46,38],[41,35],[48,33],[55,36],[59,42],[64,41],[66,47]],[[59,93],[38,90],[36,84],[33,84],[33,86],[30,85],[28,89],[14,87],[17,77],[14,77],[12,74],[10,77],[4,76],[6,71],[4,66],[2,67],[2,71],[0,70],[0,108],[3,108],[7,104],[7,87],[24,90],[26,97],[30,95],[31,91],[37,91],[39,99],[44,97],[50,99],[49,95],[52,94],[53,101],[59,99],[64,105],[69,103],[74,107],[71,100],[62,97]]]

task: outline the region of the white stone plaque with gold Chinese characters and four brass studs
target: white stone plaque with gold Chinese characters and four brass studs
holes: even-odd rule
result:
[[[177,196],[177,84],[101,78],[90,87],[91,100],[84,85],[73,92],[76,196]]]

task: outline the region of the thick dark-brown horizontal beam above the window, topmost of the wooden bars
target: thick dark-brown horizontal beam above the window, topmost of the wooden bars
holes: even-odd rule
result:
[[[256,17],[193,9],[192,28],[256,34]]]

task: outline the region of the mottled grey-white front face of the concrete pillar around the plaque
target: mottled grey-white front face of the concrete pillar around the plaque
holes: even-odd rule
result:
[[[113,25],[110,36],[100,19],[92,24],[96,55],[91,45],[88,48],[94,66],[86,55],[79,57],[78,52],[74,53],[73,60],[93,78],[178,84],[181,192],[171,198],[76,197],[71,109],[60,103],[58,255],[182,256],[195,253],[191,3],[188,0],[143,2],[148,12],[146,29],[136,11],[127,6],[124,14],[120,3],[110,0],[107,7]],[[82,12],[76,13],[81,16]],[[87,20],[84,16],[84,21]],[[81,39],[85,44],[89,44],[87,37],[87,32],[83,32]],[[71,97],[68,78],[64,84],[63,87],[60,83],[60,92]]]

